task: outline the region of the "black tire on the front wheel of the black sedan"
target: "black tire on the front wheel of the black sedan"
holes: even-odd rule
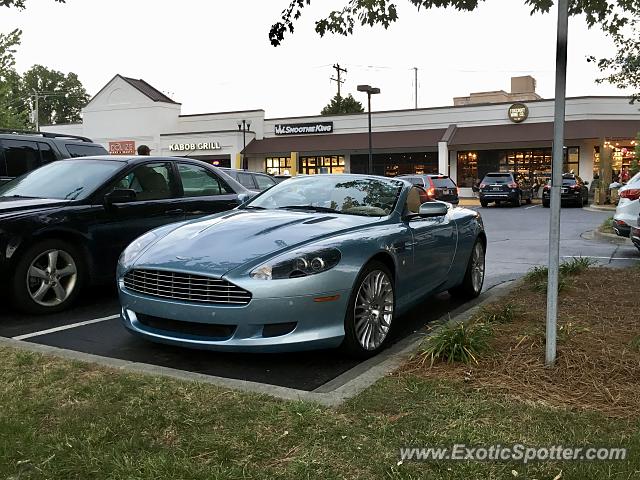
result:
[[[48,269],[38,268],[44,267],[40,261],[50,259],[49,252],[58,252],[56,254],[56,268],[47,280],[29,275],[32,267],[40,270],[44,274],[49,274]],[[62,266],[63,268],[60,268]],[[63,270],[71,271],[71,267],[75,268],[75,273],[63,275]],[[11,279],[12,300],[15,308],[31,314],[47,314],[60,312],[69,308],[76,300],[83,285],[87,279],[87,266],[85,257],[81,249],[71,245],[63,240],[44,240],[29,247],[21,256],[16,264],[16,268]],[[36,286],[41,282],[39,288]],[[46,285],[46,293],[38,302],[35,299],[40,289],[44,289]],[[64,289],[64,299],[60,300],[58,292],[59,288]],[[35,290],[35,292],[34,292]],[[62,295],[60,295],[62,296]]]

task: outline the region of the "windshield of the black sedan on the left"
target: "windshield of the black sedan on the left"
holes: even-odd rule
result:
[[[110,160],[59,160],[2,185],[0,197],[80,200],[122,167],[122,162]]]

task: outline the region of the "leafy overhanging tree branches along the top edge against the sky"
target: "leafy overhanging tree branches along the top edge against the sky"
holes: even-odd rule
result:
[[[316,21],[316,32],[320,36],[326,33],[351,35],[356,24],[361,26],[382,25],[385,29],[398,20],[396,3],[389,0],[345,0],[342,10],[334,10],[325,18]],[[399,0],[396,0],[399,1]],[[405,0],[420,9],[452,7],[456,10],[472,11],[480,2],[486,0]],[[531,13],[548,13],[553,0],[522,0]],[[294,23],[302,15],[311,0],[290,0],[289,6],[282,12],[280,21],[273,24],[269,40],[273,46],[282,43],[284,35],[293,33]],[[587,24],[592,27],[600,24],[608,33],[616,34],[629,23],[630,18],[640,11],[640,0],[570,0],[571,15],[584,14]]]

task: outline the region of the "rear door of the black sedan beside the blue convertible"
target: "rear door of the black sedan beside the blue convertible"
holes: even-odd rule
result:
[[[185,218],[224,212],[240,204],[238,194],[214,171],[192,163],[176,163],[182,195],[176,208],[184,211]]]

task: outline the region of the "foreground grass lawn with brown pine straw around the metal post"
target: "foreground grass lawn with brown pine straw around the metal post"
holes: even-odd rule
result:
[[[603,283],[620,276],[636,286],[628,304]],[[640,269],[572,277],[554,371],[541,367],[544,293],[523,287],[501,300],[521,313],[495,327],[477,365],[417,357],[339,409],[0,349],[0,478],[640,478],[640,342],[628,309],[639,280]],[[399,464],[400,447],[459,443],[629,453]]]

